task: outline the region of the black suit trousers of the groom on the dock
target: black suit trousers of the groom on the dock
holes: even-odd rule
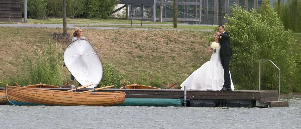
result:
[[[226,56],[221,56],[221,63],[224,69],[224,78],[225,82],[223,87],[230,88],[231,87],[231,79],[230,79],[230,73],[229,73],[229,64],[231,60],[231,54]]]

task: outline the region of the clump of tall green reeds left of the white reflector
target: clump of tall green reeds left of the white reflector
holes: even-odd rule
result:
[[[62,51],[57,49],[56,44],[49,43],[48,46],[33,49],[34,55],[24,53],[25,57],[21,62],[25,66],[19,77],[13,77],[19,85],[34,85],[42,82],[43,84],[61,86],[60,66],[62,64]]]

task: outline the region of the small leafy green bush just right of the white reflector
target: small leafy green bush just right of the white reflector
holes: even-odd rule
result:
[[[102,78],[98,87],[115,85],[114,88],[119,88],[123,78],[122,73],[113,64],[103,63],[102,68]]]

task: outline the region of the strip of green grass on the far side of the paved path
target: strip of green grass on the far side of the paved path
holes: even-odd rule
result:
[[[24,19],[22,19],[23,23]],[[27,19],[27,24],[62,24],[62,18],[51,18],[51,19]],[[81,24],[81,23],[123,23],[130,24],[131,21],[128,20],[118,20],[118,19],[70,19],[67,18],[67,24]],[[150,22],[142,21],[143,24],[173,24],[172,22]],[[141,21],[133,20],[133,24],[141,24]],[[181,23],[179,23],[181,24]]]

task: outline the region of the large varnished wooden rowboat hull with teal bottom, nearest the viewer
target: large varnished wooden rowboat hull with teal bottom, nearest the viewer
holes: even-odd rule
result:
[[[78,93],[8,85],[5,91],[8,101],[19,106],[114,106],[125,100],[125,93],[120,91]]]

